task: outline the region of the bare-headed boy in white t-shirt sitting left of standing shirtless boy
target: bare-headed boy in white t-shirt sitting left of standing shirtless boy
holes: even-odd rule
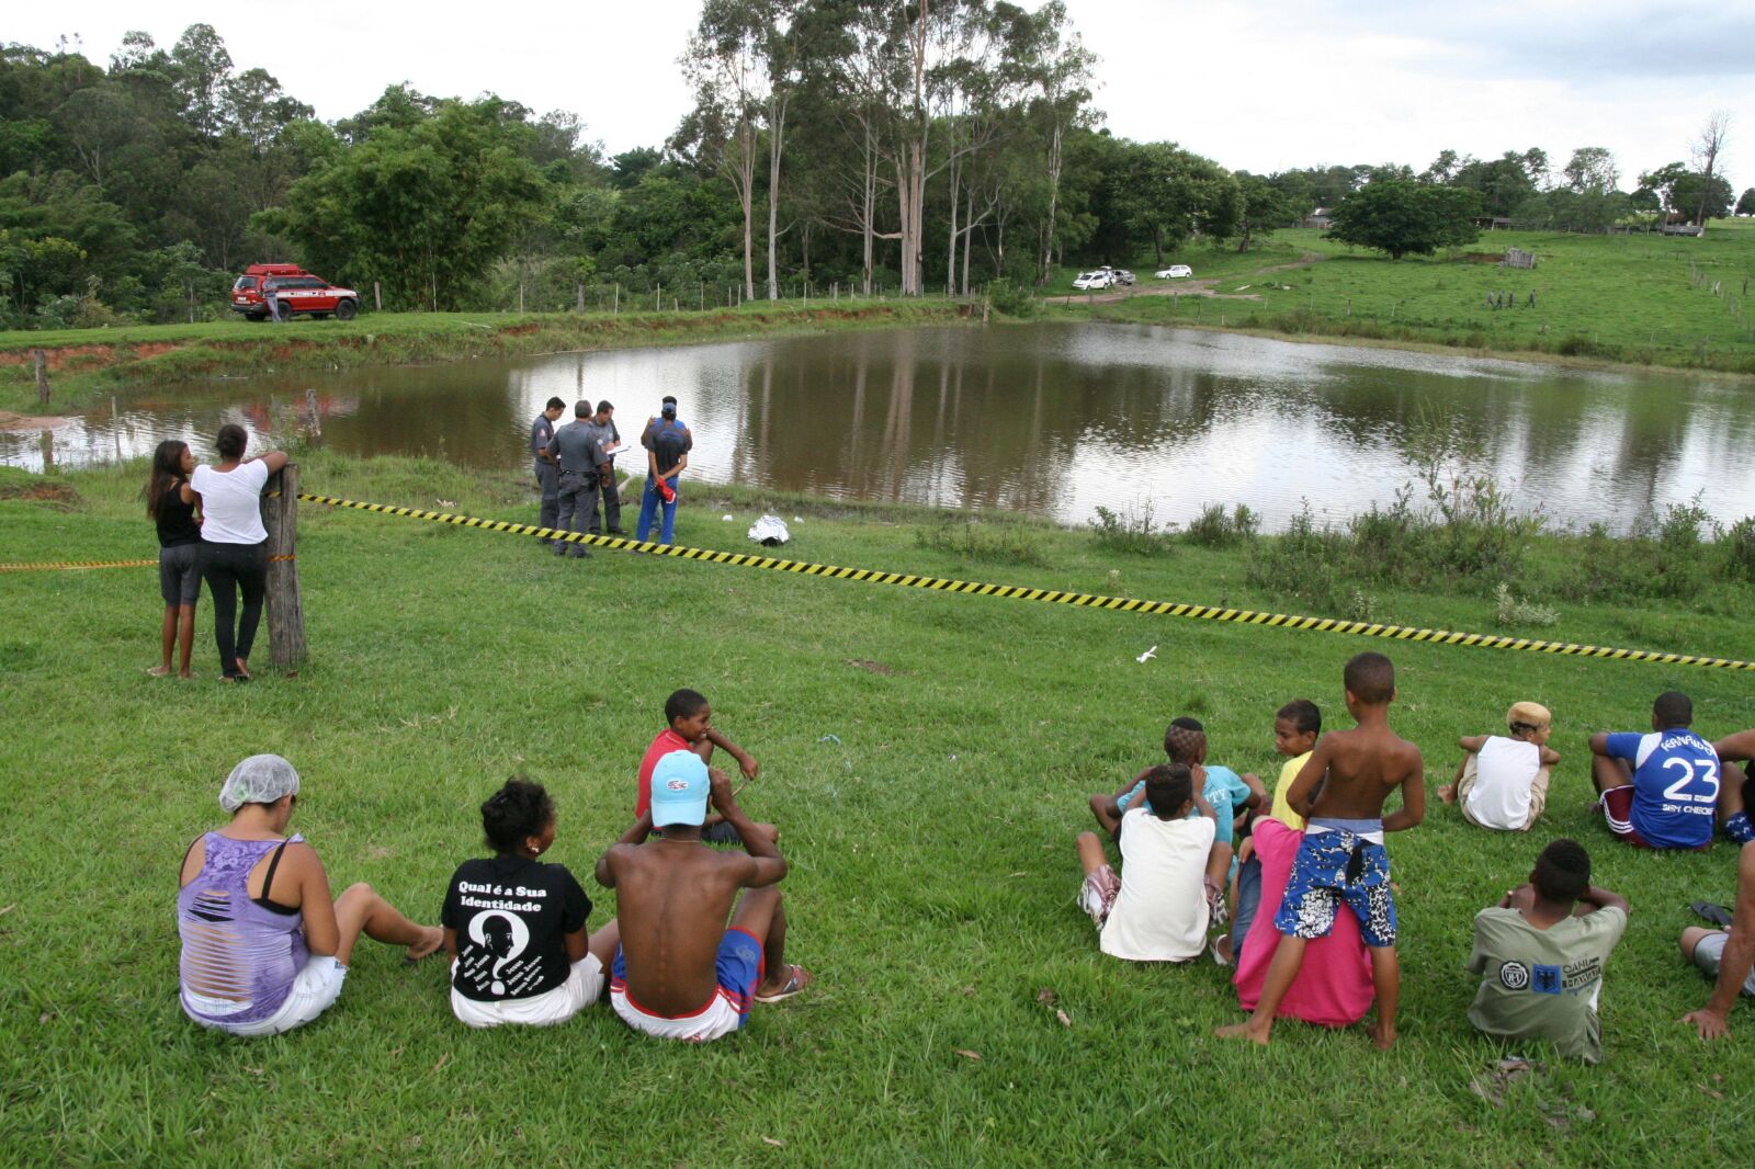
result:
[[[1190,809],[1199,816],[1188,816]],[[1162,809],[1162,811],[1160,811]],[[1079,906],[1100,948],[1132,962],[1190,962],[1206,950],[1206,888],[1230,869],[1230,844],[1214,841],[1218,816],[1185,764],[1146,772],[1146,800],[1121,814],[1121,876],[1095,832],[1079,832],[1085,886]]]

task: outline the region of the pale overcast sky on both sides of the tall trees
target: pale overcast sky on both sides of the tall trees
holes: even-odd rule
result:
[[[1037,0],[1023,0],[1035,7]],[[1234,170],[1411,163],[1609,147],[1634,176],[1685,160],[1715,109],[1734,114],[1725,169],[1755,183],[1755,4],[1718,0],[1067,0],[1100,58],[1097,105],[1130,139],[1169,139]],[[386,84],[577,112],[611,153],[658,146],[688,93],[676,58],[698,0],[474,0],[419,5],[12,5],[0,37],[77,35],[105,65],[132,28],[161,47],[197,21],[237,68],[263,67],[318,116]]]

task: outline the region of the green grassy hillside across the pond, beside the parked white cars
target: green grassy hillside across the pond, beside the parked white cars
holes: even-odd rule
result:
[[[1534,251],[1536,269],[1462,258],[1504,255],[1506,247]],[[1320,262],[1264,270],[1304,255]],[[1188,263],[1199,279],[1216,277],[1213,291],[1220,298],[1134,295],[1120,304],[1074,302],[1055,311],[1755,372],[1755,302],[1748,298],[1755,284],[1755,223],[1741,219],[1715,221],[1702,239],[1485,232],[1457,253],[1404,260],[1350,249],[1314,230],[1285,230],[1248,255],[1193,246],[1165,263]],[[1141,291],[1169,284],[1153,281],[1150,269],[1135,267],[1135,274]],[[1049,291],[1071,291],[1071,270],[1062,272]],[[1518,307],[1488,307],[1494,291],[1515,293]]]

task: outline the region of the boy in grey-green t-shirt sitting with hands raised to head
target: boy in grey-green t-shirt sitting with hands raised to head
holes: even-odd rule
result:
[[[1560,1055],[1602,1062],[1597,995],[1627,929],[1627,900],[1590,883],[1590,855],[1558,839],[1529,885],[1474,914],[1469,972],[1485,974],[1469,1022],[1488,1036],[1546,1039]]]

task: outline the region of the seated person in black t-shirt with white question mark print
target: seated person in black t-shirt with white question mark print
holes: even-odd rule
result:
[[[493,857],[465,860],[439,923],[451,955],[451,1011],[470,1027],[563,1023],[604,993],[621,934],[595,934],[591,902],[565,865],[537,857],[555,843],[555,804],[514,776],[481,806]]]

